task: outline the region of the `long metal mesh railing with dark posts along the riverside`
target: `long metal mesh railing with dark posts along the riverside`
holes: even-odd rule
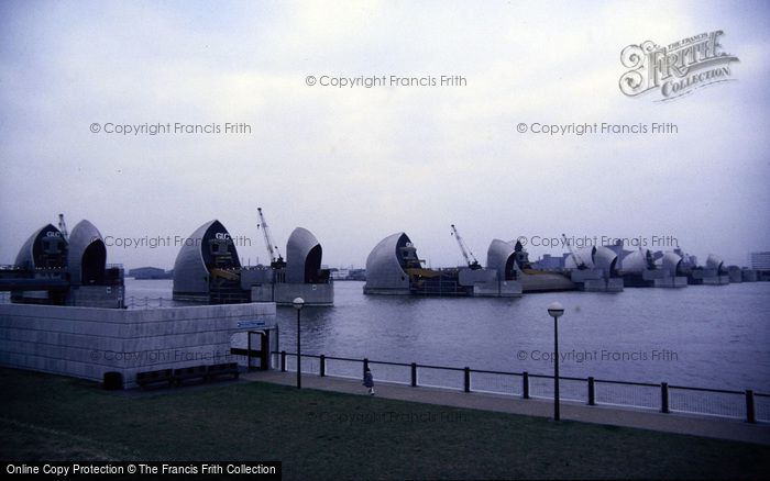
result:
[[[297,370],[296,353],[273,351],[282,371]],[[391,362],[367,358],[302,355],[302,371],[321,377],[362,379],[377,366],[376,378],[411,387],[454,389],[464,392],[506,394],[521,399],[553,399],[553,376],[491,371],[447,366]],[[770,394],[752,390],[670,385],[667,382],[630,382],[609,379],[559,377],[560,399],[587,405],[634,407],[661,413],[688,413],[770,422]]]

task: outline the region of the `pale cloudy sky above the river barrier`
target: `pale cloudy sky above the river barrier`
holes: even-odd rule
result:
[[[770,250],[769,20],[763,1],[7,0],[0,264],[58,213],[127,268],[172,268],[212,219],[265,262],[261,206],[282,250],[306,227],[330,267],[364,267],[397,232],[429,266],[462,264],[451,224],[482,264],[494,238],[538,258],[565,233],[743,266]],[[714,31],[730,81],[623,94],[626,46]],[[328,85],[383,76],[464,81]],[[676,132],[532,132],[653,122]],[[221,132],[118,132],[177,123]]]

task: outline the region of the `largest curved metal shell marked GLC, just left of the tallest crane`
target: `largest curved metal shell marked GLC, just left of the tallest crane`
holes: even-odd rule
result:
[[[185,239],[174,261],[175,293],[208,293],[209,269],[213,266],[212,245],[227,246],[230,265],[227,268],[240,268],[235,245],[230,234],[218,220],[209,221],[198,227]],[[220,247],[217,247],[220,248]],[[221,247],[223,248],[223,247]]]

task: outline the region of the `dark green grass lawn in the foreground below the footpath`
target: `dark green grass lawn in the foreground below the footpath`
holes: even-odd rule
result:
[[[267,383],[135,395],[0,369],[0,458],[278,460],[284,479],[765,478],[770,448]]]

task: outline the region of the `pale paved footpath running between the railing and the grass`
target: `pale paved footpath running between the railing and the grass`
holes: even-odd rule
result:
[[[244,380],[276,384],[295,385],[297,383],[296,372],[253,371],[243,373],[241,377]],[[302,388],[369,395],[366,388],[361,385],[361,381],[345,378],[321,378],[320,376],[306,374],[302,376]],[[387,382],[377,382],[375,390],[378,398],[385,399],[497,411],[527,416],[553,416],[553,402],[546,400],[524,400],[510,395],[468,393],[450,389],[413,388]],[[663,414],[654,411],[618,409],[615,406],[588,406],[564,401],[560,404],[560,412],[562,420],[770,445],[770,424],[768,423],[749,424],[739,420],[672,413]]]

